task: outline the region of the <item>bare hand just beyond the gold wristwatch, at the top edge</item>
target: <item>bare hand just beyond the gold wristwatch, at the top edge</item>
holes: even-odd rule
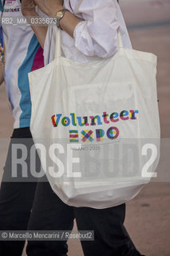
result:
[[[58,10],[63,8],[64,0],[34,0],[34,4],[48,16],[54,16]]]

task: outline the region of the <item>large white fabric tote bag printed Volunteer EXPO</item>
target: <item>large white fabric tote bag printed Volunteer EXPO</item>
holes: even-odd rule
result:
[[[117,206],[156,175],[156,56],[118,38],[113,57],[77,63],[61,57],[57,30],[55,59],[29,74],[30,130],[53,191],[70,206]]]

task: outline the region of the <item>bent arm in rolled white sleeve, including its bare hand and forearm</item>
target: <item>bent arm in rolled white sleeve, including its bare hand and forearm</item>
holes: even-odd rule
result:
[[[47,15],[63,9],[62,0],[34,0]],[[113,0],[74,0],[73,14],[65,12],[61,29],[74,38],[75,47],[86,56],[109,58],[118,50],[117,2]],[[70,0],[72,4],[72,0]],[[78,18],[81,17],[81,18]],[[50,28],[49,28],[50,31]],[[53,30],[55,31],[55,30]],[[55,32],[54,32],[55,33]]]

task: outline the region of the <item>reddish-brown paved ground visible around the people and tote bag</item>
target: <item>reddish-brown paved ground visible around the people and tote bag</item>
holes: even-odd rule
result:
[[[133,48],[152,52],[158,56],[157,82],[161,136],[168,141],[167,138],[170,138],[170,1],[123,0],[121,10],[128,24]],[[13,119],[7,106],[5,90],[2,87],[0,88],[1,138],[9,137],[12,131]],[[168,162],[165,163],[164,168],[168,170],[167,165]],[[128,202],[125,225],[141,253],[147,256],[169,256],[169,183],[151,183],[145,186],[135,199]],[[79,241],[69,241],[69,256],[83,256]]]

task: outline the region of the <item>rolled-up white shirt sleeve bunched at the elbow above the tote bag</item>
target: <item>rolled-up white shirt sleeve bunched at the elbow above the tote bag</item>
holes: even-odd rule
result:
[[[120,24],[113,0],[80,0],[73,8],[85,21],[74,30],[75,46],[83,54],[107,58],[117,52],[117,31]]]

